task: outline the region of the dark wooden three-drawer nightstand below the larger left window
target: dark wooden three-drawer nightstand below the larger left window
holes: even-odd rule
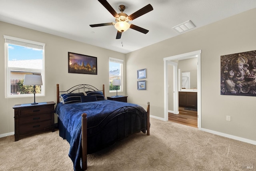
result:
[[[15,141],[24,135],[40,131],[54,132],[54,105],[53,101],[36,105],[30,103],[14,105],[12,108],[14,109]]]

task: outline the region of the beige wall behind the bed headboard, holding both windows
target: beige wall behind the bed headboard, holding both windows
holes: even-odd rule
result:
[[[5,98],[5,63],[4,63],[4,38],[3,35],[32,40],[45,43],[45,96],[36,97],[37,102],[55,101],[56,102],[56,84],[60,84],[61,90],[66,90],[76,84],[91,84],[102,89],[105,84],[106,96],[115,95],[109,93],[108,78],[108,59],[119,58],[124,60],[124,80],[126,79],[125,54],[106,50],[96,46],[72,41],[66,38],[53,36],[43,32],[30,30],[27,28],[15,26],[0,22],[0,135],[14,131],[14,109],[15,104],[32,103],[33,97],[26,98]],[[68,52],[85,54],[97,57],[98,75],[90,74],[71,74],[68,73]],[[124,82],[124,92],[126,94],[126,84]]]

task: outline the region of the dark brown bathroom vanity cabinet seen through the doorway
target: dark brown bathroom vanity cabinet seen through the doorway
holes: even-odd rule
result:
[[[179,91],[179,106],[197,109],[197,92]]]

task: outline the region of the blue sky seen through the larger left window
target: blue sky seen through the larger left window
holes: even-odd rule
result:
[[[8,57],[9,61],[12,60],[33,60],[33,59],[42,59],[43,50],[28,48],[24,46],[17,46],[9,44],[8,46]]]

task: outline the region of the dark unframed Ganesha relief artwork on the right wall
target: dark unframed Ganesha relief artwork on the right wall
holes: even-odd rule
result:
[[[220,94],[256,96],[256,50],[220,56]]]

